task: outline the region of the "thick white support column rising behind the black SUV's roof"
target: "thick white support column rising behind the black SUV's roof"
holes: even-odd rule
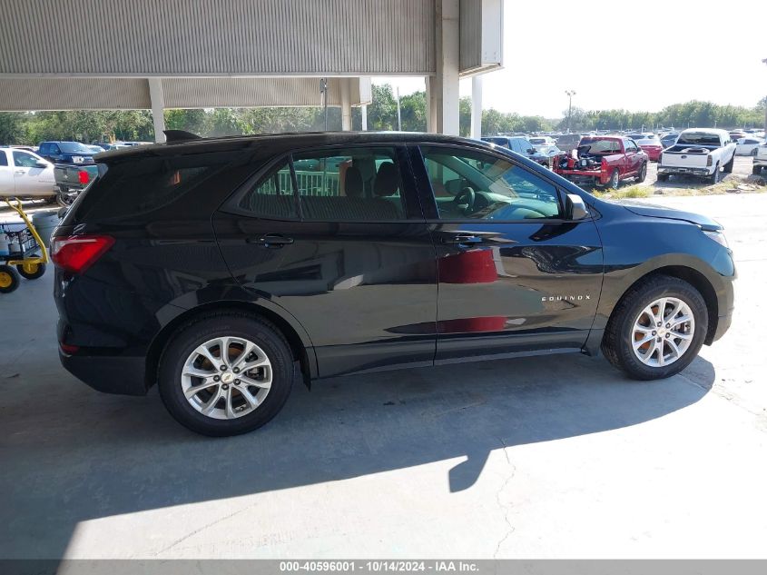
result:
[[[428,131],[458,135],[460,2],[437,0],[435,38],[437,74],[427,79]]]

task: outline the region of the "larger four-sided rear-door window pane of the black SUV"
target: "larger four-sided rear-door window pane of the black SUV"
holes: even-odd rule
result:
[[[304,220],[375,222],[407,217],[394,148],[294,154],[293,169]]]

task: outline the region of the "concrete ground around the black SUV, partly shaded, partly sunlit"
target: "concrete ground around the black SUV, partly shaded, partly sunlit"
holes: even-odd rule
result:
[[[724,223],[739,268],[731,331],[682,374],[558,355],[338,378],[229,439],[64,372],[53,274],[25,282],[0,299],[0,556],[767,556],[767,194],[652,201]]]

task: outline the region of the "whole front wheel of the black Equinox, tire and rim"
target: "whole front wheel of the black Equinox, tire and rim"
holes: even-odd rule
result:
[[[693,361],[707,330],[701,293],[679,278],[656,275],[624,294],[607,323],[602,350],[633,379],[661,379]]]

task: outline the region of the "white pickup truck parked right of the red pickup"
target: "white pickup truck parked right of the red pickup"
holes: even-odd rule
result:
[[[734,162],[735,143],[726,130],[690,128],[661,153],[658,181],[665,182],[670,175],[694,175],[717,183],[722,169],[733,172]]]

